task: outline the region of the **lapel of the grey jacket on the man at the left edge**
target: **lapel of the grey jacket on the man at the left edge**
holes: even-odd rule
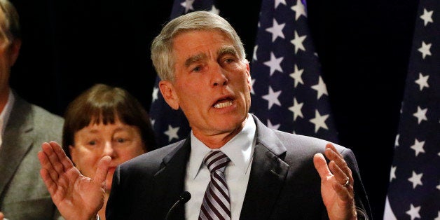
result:
[[[31,111],[29,104],[15,96],[15,103],[0,148],[0,195],[4,193],[5,186],[11,181],[15,170],[18,169],[32,145],[33,115]]]

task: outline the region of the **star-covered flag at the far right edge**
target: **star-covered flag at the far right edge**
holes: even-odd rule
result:
[[[384,219],[440,220],[440,1],[420,0]]]

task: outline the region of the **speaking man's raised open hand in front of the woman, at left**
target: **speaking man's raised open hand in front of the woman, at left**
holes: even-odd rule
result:
[[[43,143],[38,158],[40,174],[50,196],[65,219],[95,219],[104,205],[105,179],[111,158],[98,163],[95,177],[83,176],[66,156],[60,144]]]

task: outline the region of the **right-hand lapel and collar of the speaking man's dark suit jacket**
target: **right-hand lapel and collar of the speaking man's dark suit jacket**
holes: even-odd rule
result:
[[[282,161],[286,149],[273,131],[255,117],[254,121],[257,142],[240,219],[269,219],[289,165]]]

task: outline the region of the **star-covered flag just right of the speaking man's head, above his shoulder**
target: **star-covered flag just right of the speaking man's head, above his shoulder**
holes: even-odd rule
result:
[[[305,1],[262,1],[251,76],[250,111],[268,127],[338,142]]]

